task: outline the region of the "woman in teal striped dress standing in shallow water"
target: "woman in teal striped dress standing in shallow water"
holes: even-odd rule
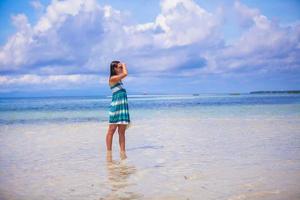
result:
[[[130,127],[130,115],[128,99],[122,79],[127,76],[126,64],[120,61],[112,61],[110,64],[109,86],[112,90],[112,101],[109,107],[109,127],[106,134],[107,156],[112,153],[113,135],[118,128],[120,156],[125,159],[125,130]]]

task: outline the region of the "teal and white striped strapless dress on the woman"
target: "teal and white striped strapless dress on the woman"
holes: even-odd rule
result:
[[[127,124],[126,129],[131,126],[128,99],[122,81],[119,81],[113,86],[112,101],[109,106],[109,124]]]

